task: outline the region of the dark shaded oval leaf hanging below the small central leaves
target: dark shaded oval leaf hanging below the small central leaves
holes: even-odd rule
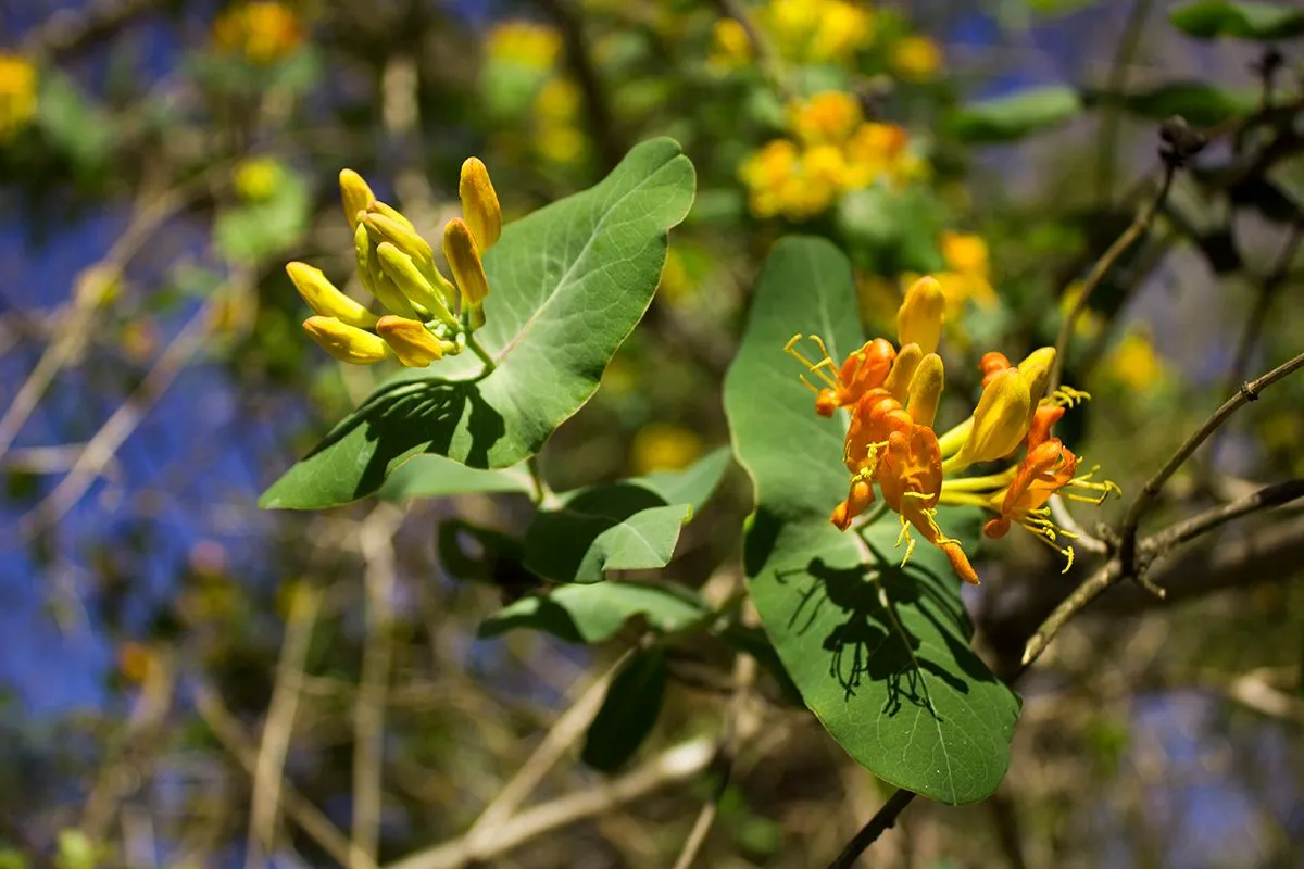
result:
[[[584,735],[584,763],[614,773],[634,757],[656,727],[668,675],[660,648],[638,651],[625,662]]]

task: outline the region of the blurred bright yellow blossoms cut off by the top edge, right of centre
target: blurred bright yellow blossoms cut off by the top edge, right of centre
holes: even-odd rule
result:
[[[751,17],[780,57],[795,64],[846,64],[874,39],[874,12],[849,0],[769,0]],[[722,72],[748,60],[743,26],[719,20],[708,65]]]

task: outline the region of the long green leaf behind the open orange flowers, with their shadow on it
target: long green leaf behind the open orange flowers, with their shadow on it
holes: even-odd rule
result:
[[[725,379],[734,451],[756,494],[751,598],[806,705],[852,757],[935,800],[982,800],[1009,763],[1018,698],[969,648],[960,581],[939,550],[921,541],[902,569],[895,515],[863,539],[829,524],[848,487],[845,421],[815,414],[782,353],[794,332],[822,335],[838,361],[863,341],[850,266],[828,241],[775,248]],[[938,521],[971,547],[973,511]]]

